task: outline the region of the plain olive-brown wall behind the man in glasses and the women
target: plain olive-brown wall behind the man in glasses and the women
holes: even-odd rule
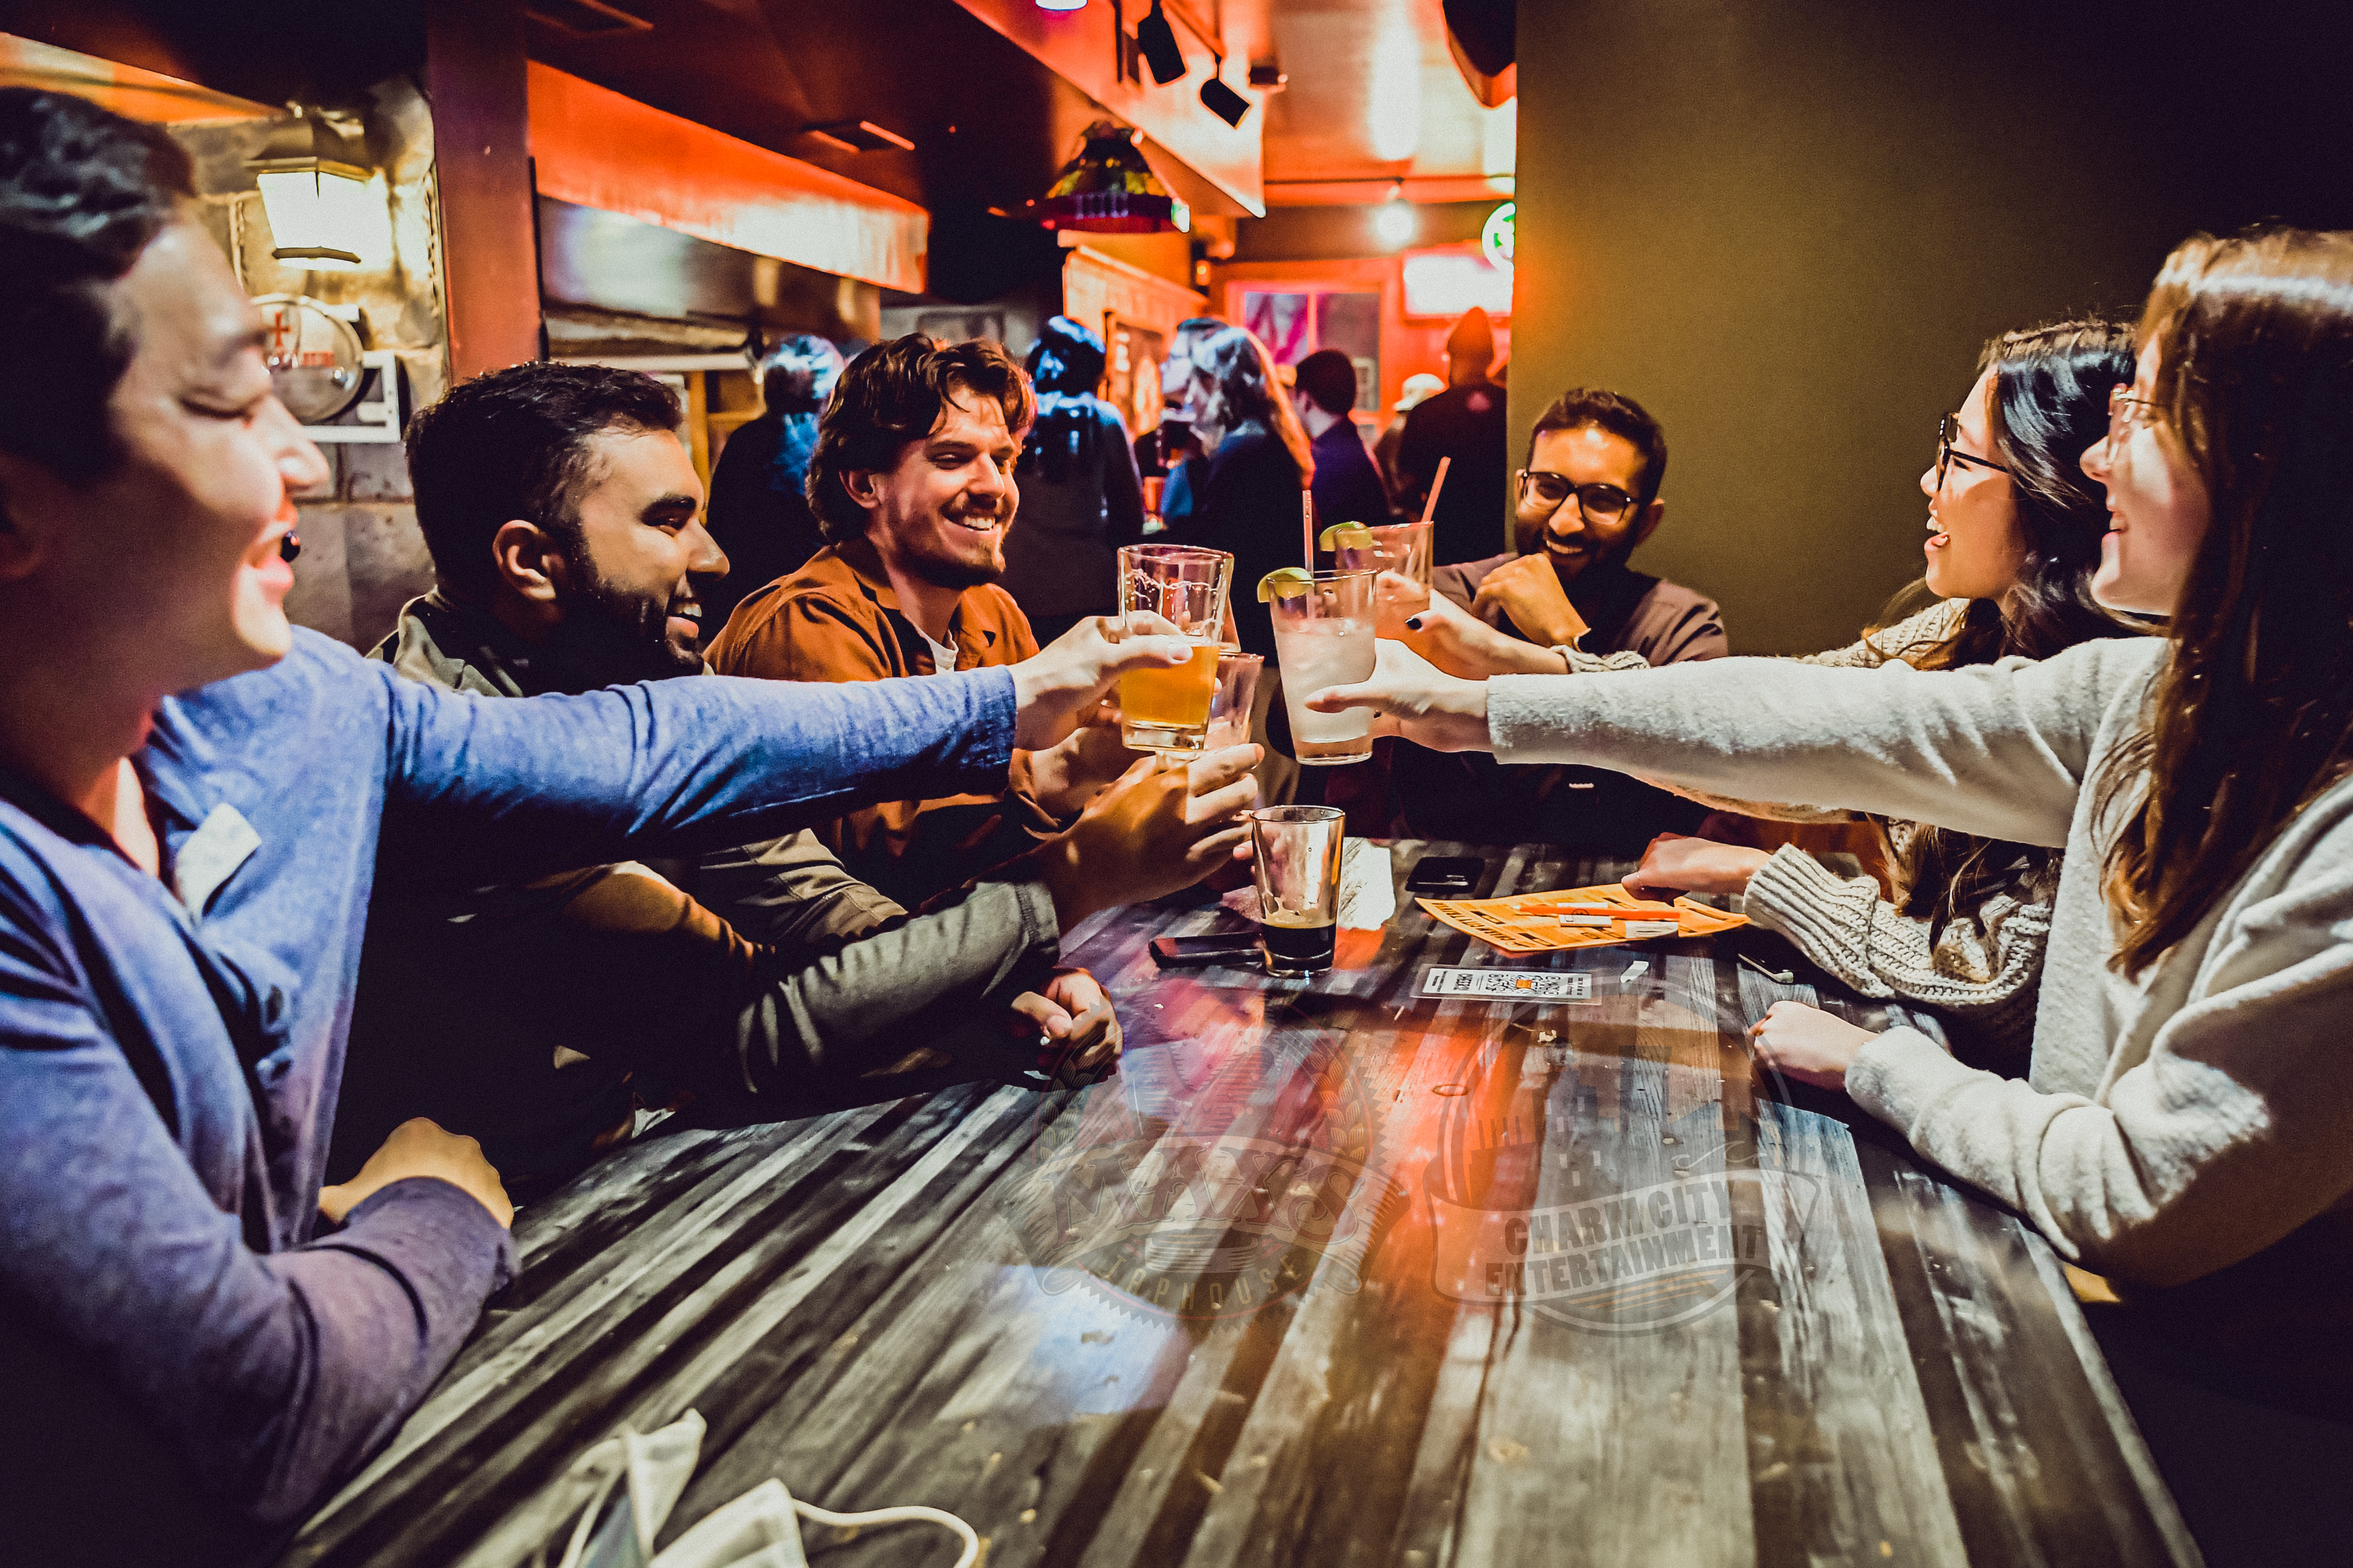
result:
[[[1920,574],[1984,341],[2137,310],[2184,235],[2353,226],[2339,5],[1522,0],[1515,449],[1553,393],[1666,425],[1638,564],[1744,654]]]

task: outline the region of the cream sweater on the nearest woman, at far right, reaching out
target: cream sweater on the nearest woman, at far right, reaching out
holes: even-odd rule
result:
[[[2019,1208],[2061,1255],[2169,1286],[2306,1222],[2353,1234],[2353,780],[2271,842],[2139,983],[2108,969],[2113,839],[2089,780],[2144,722],[2162,639],[1920,672],[1720,658],[1489,682],[1504,762],[1581,762],[1699,790],[1821,799],[2066,849],[2026,1081],[1915,1030],[1847,1091],[1920,1154]]]

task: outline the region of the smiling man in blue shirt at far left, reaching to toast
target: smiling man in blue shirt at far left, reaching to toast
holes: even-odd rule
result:
[[[372,886],[1002,788],[1186,654],[1089,625],[920,682],[485,703],[294,632],[322,463],[186,190],[160,132],[0,89],[0,1497],[42,1563],[296,1519],[511,1267],[496,1171],[428,1121],[322,1201]]]

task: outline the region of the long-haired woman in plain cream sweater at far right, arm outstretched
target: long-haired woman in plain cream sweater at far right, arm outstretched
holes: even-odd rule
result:
[[[1449,677],[1398,644],[1318,710],[2066,849],[2026,1079],[1777,1004],[1767,1065],[1845,1088],[2068,1260],[2306,1338],[2353,1307],[2353,233],[2181,244],[2082,465],[2099,604],[2165,637],[2040,663]],[[2231,1269],[2228,1274],[2221,1274]],[[2280,1312],[2297,1314],[2282,1321]],[[2240,1340],[2245,1342],[2245,1340]],[[2266,1340],[2268,1342],[2268,1340]]]

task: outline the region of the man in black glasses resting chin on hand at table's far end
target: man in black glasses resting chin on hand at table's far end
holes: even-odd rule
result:
[[[1713,599],[1626,564],[1666,520],[1664,480],[1666,433],[1642,404],[1588,388],[1562,393],[1537,418],[1515,480],[1518,552],[1440,567],[1431,588],[1497,630],[1607,663],[1722,658],[1725,618]],[[1405,827],[1478,844],[1638,856],[1654,835],[1692,832],[1706,816],[1624,773],[1504,766],[1417,745],[1398,748],[1391,778]]]

